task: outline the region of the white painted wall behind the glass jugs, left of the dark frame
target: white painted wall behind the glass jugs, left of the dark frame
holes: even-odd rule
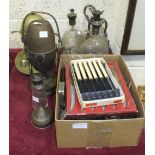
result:
[[[30,11],[47,11],[53,14],[59,24],[61,35],[68,29],[67,13],[74,8],[77,13],[77,28],[84,31],[87,22],[83,15],[83,8],[87,4],[94,5],[99,10],[105,10],[102,17],[109,24],[108,37],[112,50],[120,52],[124,32],[126,13],[129,0],[10,0],[9,1],[9,46],[10,48],[23,47],[20,35],[11,34],[11,31],[20,30],[24,16]],[[49,19],[55,29],[55,24]],[[56,30],[56,29],[55,29]]]

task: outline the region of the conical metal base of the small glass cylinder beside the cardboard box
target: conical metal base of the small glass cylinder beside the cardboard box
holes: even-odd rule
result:
[[[37,128],[47,128],[53,119],[52,111],[49,107],[39,106],[32,112],[32,124]]]

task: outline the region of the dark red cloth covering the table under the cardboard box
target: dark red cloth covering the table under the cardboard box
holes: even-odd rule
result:
[[[142,132],[139,144],[117,148],[72,148],[60,149],[56,145],[55,124],[47,129],[37,129],[31,124],[30,77],[17,71],[14,58],[19,49],[10,50],[10,155],[144,155],[145,136]],[[49,97],[49,106],[54,112],[55,95]]]

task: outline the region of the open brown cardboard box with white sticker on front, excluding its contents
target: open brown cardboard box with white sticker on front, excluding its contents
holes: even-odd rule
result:
[[[75,147],[119,147],[135,146],[139,142],[144,127],[144,110],[138,96],[134,81],[121,56],[114,55],[62,55],[60,69],[71,59],[104,57],[106,61],[117,61],[121,72],[130,84],[130,90],[138,107],[138,118],[111,120],[59,120],[58,94],[56,94],[55,123],[56,139],[59,148]]]

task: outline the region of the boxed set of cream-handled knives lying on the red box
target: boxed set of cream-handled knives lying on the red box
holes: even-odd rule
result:
[[[82,108],[125,102],[124,93],[103,58],[72,60],[70,69]]]

